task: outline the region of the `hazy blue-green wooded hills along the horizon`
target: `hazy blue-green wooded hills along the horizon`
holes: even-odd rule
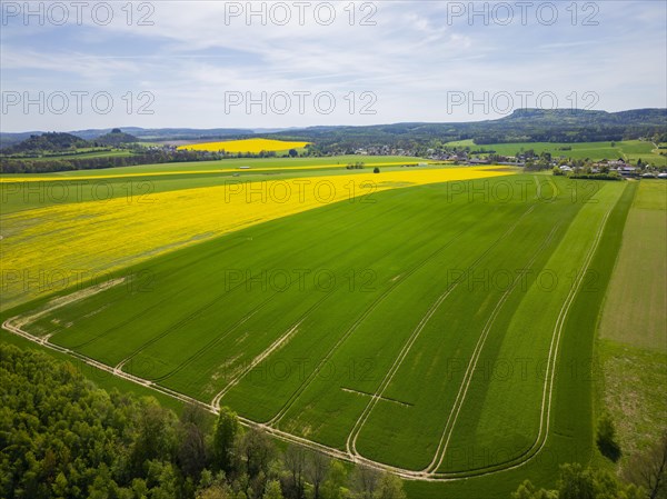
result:
[[[331,151],[354,151],[359,147],[390,146],[414,149],[431,141],[449,142],[471,139],[478,144],[508,142],[594,142],[645,137],[667,140],[667,109],[634,109],[620,112],[581,109],[520,109],[497,120],[452,123],[394,123],[368,127],[309,127],[301,129],[191,129],[122,128],[141,141],[215,141],[263,137],[280,140],[316,142]],[[108,137],[111,129],[79,130],[72,134],[86,140]],[[0,133],[0,147],[16,144],[30,133]],[[67,133],[66,133],[67,134]]]

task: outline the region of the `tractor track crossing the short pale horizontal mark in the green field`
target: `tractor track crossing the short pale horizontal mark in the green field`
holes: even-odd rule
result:
[[[488,256],[498,246],[498,243],[500,243],[500,241],[502,241],[504,239],[506,239],[507,237],[509,237],[515,231],[515,229],[518,227],[518,224],[520,223],[520,221],[525,217],[527,217],[528,214],[530,214],[534,209],[535,209],[535,204],[530,206],[502,234],[500,234],[500,237],[498,239],[496,239],[494,242],[491,242],[491,244],[487,249],[485,249],[472,261],[472,263],[470,263],[468,266],[468,268],[466,269],[466,273],[468,273],[472,269],[475,269],[479,265],[479,262],[486,256]],[[445,302],[445,300],[449,297],[449,295],[451,295],[451,292],[454,292],[454,290],[458,287],[459,283],[460,283],[460,280],[456,280],[454,283],[449,285],[445,289],[445,292],[442,292],[436,299],[436,301],[434,301],[434,303],[430,306],[430,308],[427,310],[427,312],[420,319],[420,321],[417,325],[417,327],[415,327],[415,329],[412,330],[412,332],[408,337],[407,341],[404,343],[404,346],[400,349],[398,356],[396,357],[396,360],[394,361],[394,363],[391,365],[391,367],[389,368],[389,370],[385,375],[385,378],[382,378],[382,381],[380,382],[379,387],[377,388],[377,390],[375,391],[375,393],[371,396],[370,400],[366,405],[366,408],[364,409],[364,411],[361,412],[361,415],[359,416],[359,418],[355,422],[355,426],[352,427],[350,433],[347,437],[346,448],[347,448],[347,451],[350,455],[357,456],[357,457],[360,456],[359,452],[357,451],[357,439],[359,437],[359,433],[361,432],[361,429],[366,425],[366,421],[370,417],[370,413],[372,412],[372,409],[376,407],[378,400],[380,400],[384,397],[385,390],[391,383],[391,380],[396,376],[396,372],[398,371],[398,369],[400,369],[404,360],[406,359],[406,357],[410,352],[410,350],[412,348],[412,345],[415,345],[415,342],[417,341],[417,339],[421,335],[421,331],[424,331],[424,328],[426,328],[427,323],[430,321],[430,319],[432,318],[432,316],[438,311],[438,309],[440,308],[440,306],[442,305],[442,302]]]

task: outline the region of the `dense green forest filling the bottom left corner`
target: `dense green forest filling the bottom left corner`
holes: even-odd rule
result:
[[[0,345],[0,400],[6,499],[405,499],[398,478],[279,449],[228,409],[177,417],[33,350]]]

